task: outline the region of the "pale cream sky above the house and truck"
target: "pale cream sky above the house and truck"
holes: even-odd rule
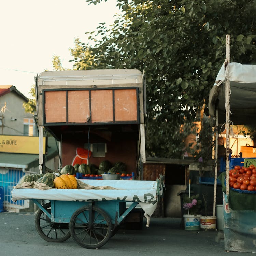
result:
[[[0,1],[0,85],[13,85],[26,97],[34,77],[53,70],[53,55],[72,69],[69,48],[74,39],[88,42],[85,32],[97,31],[99,23],[112,25],[120,14],[116,0],[97,5],[86,0]]]

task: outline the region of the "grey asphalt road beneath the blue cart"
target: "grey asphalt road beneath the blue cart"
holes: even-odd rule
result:
[[[69,238],[62,243],[42,239],[34,225],[34,213],[0,213],[0,255],[228,255],[255,256],[253,253],[226,252],[224,242],[216,242],[216,230],[188,231],[180,227],[180,218],[151,218],[150,227],[144,219],[142,230],[119,229],[99,249],[85,249]]]

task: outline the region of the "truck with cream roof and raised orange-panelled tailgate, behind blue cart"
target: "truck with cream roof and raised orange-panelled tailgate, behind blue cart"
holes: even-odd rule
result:
[[[144,73],[137,69],[44,71],[35,77],[35,91],[40,173],[47,168],[44,127],[58,141],[59,169],[72,165],[77,150],[84,149],[87,164],[122,162],[126,173],[143,180]]]

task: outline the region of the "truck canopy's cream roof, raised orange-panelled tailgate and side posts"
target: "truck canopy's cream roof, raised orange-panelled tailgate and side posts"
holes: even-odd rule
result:
[[[60,141],[63,130],[136,126],[144,163],[144,86],[144,74],[137,69],[45,71],[35,77],[40,172],[43,127]]]

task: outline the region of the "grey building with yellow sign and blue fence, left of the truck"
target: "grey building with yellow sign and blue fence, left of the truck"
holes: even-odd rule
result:
[[[39,138],[33,114],[25,113],[28,102],[15,86],[0,85],[0,212],[28,210],[31,200],[11,200],[11,190],[26,174],[39,173]],[[58,170],[58,143],[44,140],[45,165]],[[3,208],[3,209],[2,209]]]

